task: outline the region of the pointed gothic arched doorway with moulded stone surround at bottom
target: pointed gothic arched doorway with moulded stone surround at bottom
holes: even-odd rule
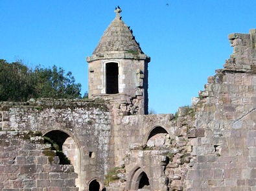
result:
[[[135,168],[134,172],[130,173],[126,190],[151,190],[150,181],[148,175],[141,169]]]

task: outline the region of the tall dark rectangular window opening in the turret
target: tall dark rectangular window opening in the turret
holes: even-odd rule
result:
[[[115,94],[118,92],[118,63],[106,64],[106,93]]]

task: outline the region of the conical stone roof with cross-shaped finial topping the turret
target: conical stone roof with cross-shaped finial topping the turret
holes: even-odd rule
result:
[[[104,54],[108,52],[137,52],[142,53],[141,48],[132,34],[130,28],[122,21],[118,8],[115,10],[117,16],[110,23],[110,26],[105,30],[93,54]]]

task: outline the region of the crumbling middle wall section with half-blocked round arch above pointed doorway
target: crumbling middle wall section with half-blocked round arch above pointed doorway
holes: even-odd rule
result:
[[[107,188],[134,190],[134,174],[141,171],[151,190],[183,190],[186,172],[194,165],[191,142],[204,137],[204,129],[194,128],[195,109],[181,107],[175,117],[132,115],[116,120],[115,166],[125,166],[125,173],[118,169]]]

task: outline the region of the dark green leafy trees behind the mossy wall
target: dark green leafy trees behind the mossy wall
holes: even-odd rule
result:
[[[29,98],[81,98],[81,84],[71,72],[54,65],[34,70],[22,62],[0,60],[0,101],[26,101]]]

